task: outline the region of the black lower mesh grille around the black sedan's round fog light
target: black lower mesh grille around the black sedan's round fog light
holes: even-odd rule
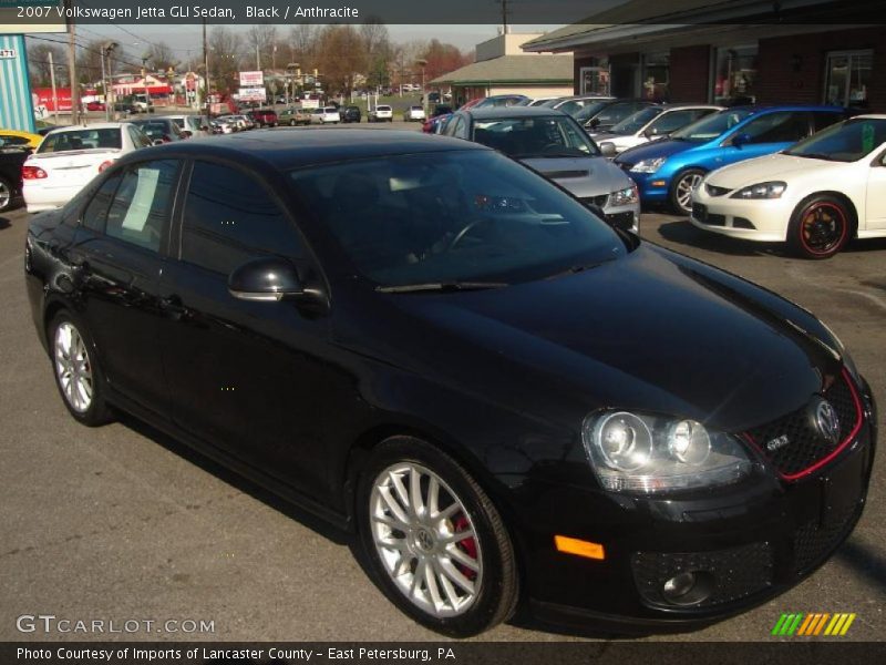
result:
[[[719,605],[746,597],[772,584],[773,557],[769,543],[751,543],[712,552],[637,552],[631,557],[637,589],[647,602],[673,607],[661,591],[671,577],[684,572],[704,572],[712,580],[710,595],[697,607]]]

